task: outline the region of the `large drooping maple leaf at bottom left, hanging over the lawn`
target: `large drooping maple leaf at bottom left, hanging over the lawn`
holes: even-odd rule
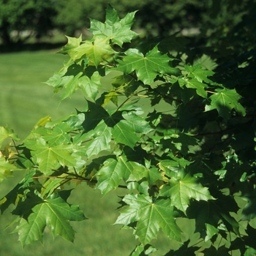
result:
[[[63,193],[67,193],[67,191]],[[74,241],[75,231],[69,221],[86,219],[83,211],[80,211],[76,205],[69,205],[61,196],[61,192],[50,196],[43,203],[37,204],[32,211],[28,220],[21,219],[14,231],[18,232],[19,241],[23,246],[37,240],[42,242],[43,231],[47,225],[53,233],[53,238],[62,236],[68,241]]]

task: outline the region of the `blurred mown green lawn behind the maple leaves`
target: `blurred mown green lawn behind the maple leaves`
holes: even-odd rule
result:
[[[0,55],[0,126],[8,124],[20,138],[26,138],[39,118],[48,115],[53,119],[60,118],[75,112],[75,108],[82,109],[85,104],[83,95],[77,93],[72,99],[65,99],[59,105],[59,94],[53,96],[52,88],[42,83],[67,60],[66,56],[53,54],[55,52],[42,50]],[[110,83],[110,78],[104,83]],[[15,176],[16,178],[8,178],[1,184],[0,198],[18,182],[20,174],[15,173]],[[0,255],[129,255],[138,241],[132,236],[132,230],[120,230],[119,225],[113,225],[118,217],[118,211],[115,211],[119,200],[117,195],[124,193],[125,191],[118,190],[102,197],[99,190],[94,191],[86,184],[73,190],[70,202],[80,203],[80,208],[89,218],[73,223],[77,231],[74,244],[60,237],[53,242],[46,229],[43,246],[35,242],[21,249],[18,234],[10,234],[13,227],[4,230],[15,219],[9,214],[12,211],[9,208],[0,216]],[[166,241],[167,238],[161,239],[164,244]],[[166,252],[166,247],[164,250]],[[163,255],[163,252],[153,255]]]

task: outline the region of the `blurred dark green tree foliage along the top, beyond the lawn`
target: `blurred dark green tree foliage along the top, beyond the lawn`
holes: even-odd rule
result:
[[[135,28],[147,37],[167,37],[173,31],[187,35],[199,33],[202,35],[200,44],[206,44],[209,36],[218,42],[219,37],[225,37],[243,15],[249,16],[255,10],[254,0],[1,0],[1,43],[20,43],[30,36],[39,39],[45,34],[53,35],[56,30],[69,37],[82,33],[88,38],[88,17],[103,21],[108,2],[115,6],[121,17],[127,12],[140,10]],[[254,26],[255,22],[252,20],[250,24]]]

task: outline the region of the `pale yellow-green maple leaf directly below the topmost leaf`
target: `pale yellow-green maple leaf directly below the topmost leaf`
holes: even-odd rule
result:
[[[96,67],[116,53],[109,44],[109,39],[96,37],[93,42],[87,40],[74,50],[71,58],[80,60],[88,57]]]

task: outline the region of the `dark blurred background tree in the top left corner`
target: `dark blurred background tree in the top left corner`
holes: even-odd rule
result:
[[[39,38],[53,29],[53,1],[0,0],[0,6],[0,37],[4,45],[24,42],[31,35]]]

